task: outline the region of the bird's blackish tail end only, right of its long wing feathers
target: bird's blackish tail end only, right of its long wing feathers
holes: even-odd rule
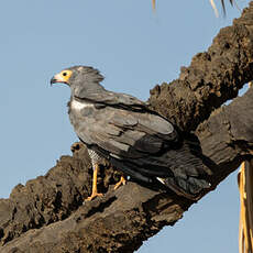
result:
[[[208,178],[212,173],[204,165],[201,156],[197,138],[186,136],[179,150],[169,151],[164,157],[173,176],[156,177],[156,179],[177,195],[197,199],[202,190],[211,187]]]

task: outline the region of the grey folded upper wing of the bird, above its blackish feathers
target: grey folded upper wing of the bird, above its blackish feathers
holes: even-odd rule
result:
[[[177,141],[172,123],[151,113],[105,107],[79,119],[78,136],[89,145],[114,155],[136,158],[160,153],[166,142]],[[91,118],[92,117],[92,118]],[[168,144],[167,144],[168,145]]]

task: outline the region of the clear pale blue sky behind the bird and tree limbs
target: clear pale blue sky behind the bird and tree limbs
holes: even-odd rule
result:
[[[91,65],[106,76],[107,89],[146,100],[151,88],[177,78],[180,66],[189,65],[220,28],[240,16],[227,6],[227,18],[217,19],[208,0],[157,0],[156,14],[151,0],[2,1],[0,197],[45,174],[77,141],[67,117],[69,89],[51,88],[54,74]],[[233,173],[138,252],[235,253],[238,216]]]

